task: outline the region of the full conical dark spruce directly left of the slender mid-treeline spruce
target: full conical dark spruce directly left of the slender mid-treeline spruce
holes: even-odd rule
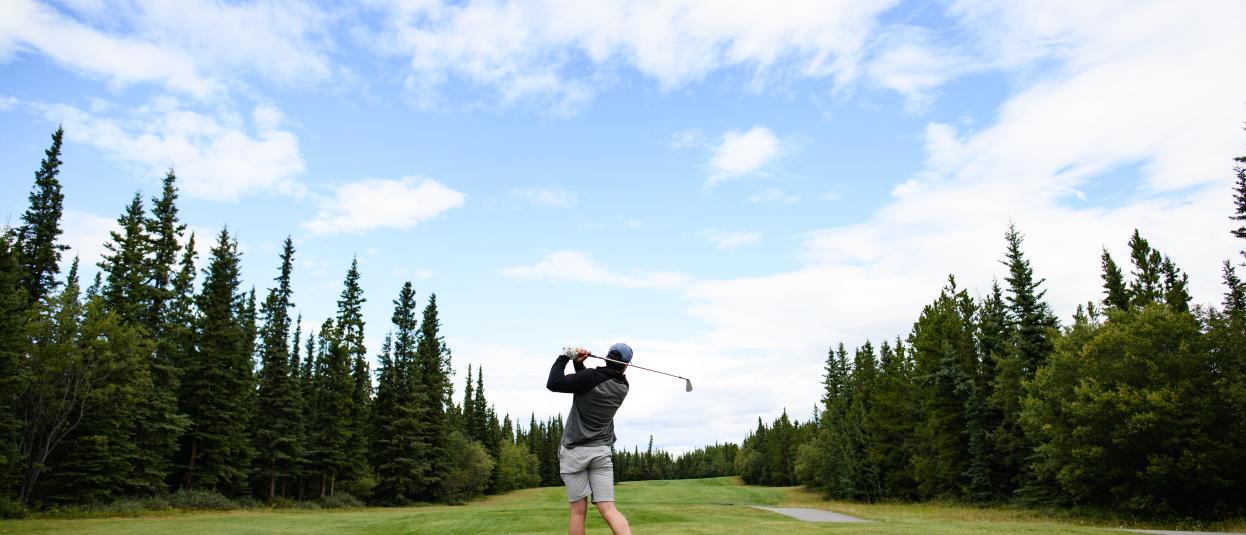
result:
[[[254,378],[248,309],[239,292],[238,244],[222,229],[196,304],[197,350],[186,369],[183,407],[189,428],[182,446],[181,485],[242,495],[252,466],[248,424]]]

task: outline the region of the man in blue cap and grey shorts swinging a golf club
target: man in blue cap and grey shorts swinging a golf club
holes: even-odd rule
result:
[[[584,359],[588,349],[563,348],[549,369],[546,388],[551,392],[574,394],[571,415],[562,429],[558,445],[558,471],[567,484],[567,501],[571,503],[571,521],[567,533],[583,535],[584,515],[588,514],[588,495],[602,519],[614,535],[630,535],[632,528],[618,509],[614,509],[614,461],[611,445],[614,444],[614,413],[627,398],[627,364],[607,362],[604,367],[588,369]],[[627,344],[611,345],[609,359],[632,362],[632,348]],[[574,360],[576,373],[564,374],[567,360]]]

